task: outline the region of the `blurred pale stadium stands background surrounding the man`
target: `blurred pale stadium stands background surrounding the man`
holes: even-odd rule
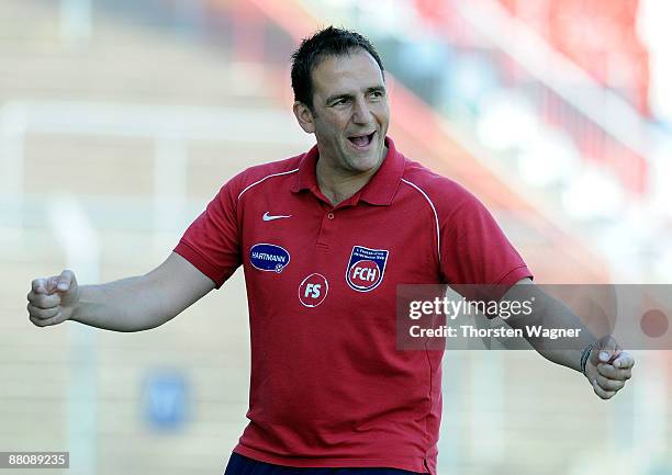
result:
[[[222,473],[246,422],[242,273],[141,333],[26,317],[35,276],[145,273],[220,185],[305,150],[289,56],[389,69],[401,150],[483,200],[540,283],[672,281],[668,0],[0,0],[0,451]],[[672,474],[670,353],[597,399],[531,351],[448,351],[441,475]],[[11,472],[11,471],[10,471]],[[10,473],[8,472],[8,473]]]

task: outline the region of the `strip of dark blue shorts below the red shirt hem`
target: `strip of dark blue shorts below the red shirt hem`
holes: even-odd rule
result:
[[[224,475],[421,475],[399,468],[296,468],[232,453]]]

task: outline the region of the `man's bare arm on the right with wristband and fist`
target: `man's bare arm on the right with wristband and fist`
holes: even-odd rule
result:
[[[530,315],[515,315],[505,319],[514,329],[522,329],[525,339],[539,354],[553,363],[582,371],[593,391],[602,399],[612,398],[632,375],[635,359],[624,351],[611,336],[595,337],[581,319],[562,302],[548,295],[529,279],[524,279],[508,290],[502,301],[534,301]],[[576,330],[574,338],[551,339],[533,336],[525,327],[540,326],[549,329]]]

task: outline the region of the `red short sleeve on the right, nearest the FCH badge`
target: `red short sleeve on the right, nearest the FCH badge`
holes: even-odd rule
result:
[[[533,276],[490,212],[469,192],[440,223],[440,242],[441,273],[449,284],[507,289]]]

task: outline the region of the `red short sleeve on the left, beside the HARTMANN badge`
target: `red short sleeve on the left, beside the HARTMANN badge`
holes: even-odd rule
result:
[[[173,249],[208,275],[215,289],[220,289],[242,263],[234,188],[234,180],[222,186]]]

